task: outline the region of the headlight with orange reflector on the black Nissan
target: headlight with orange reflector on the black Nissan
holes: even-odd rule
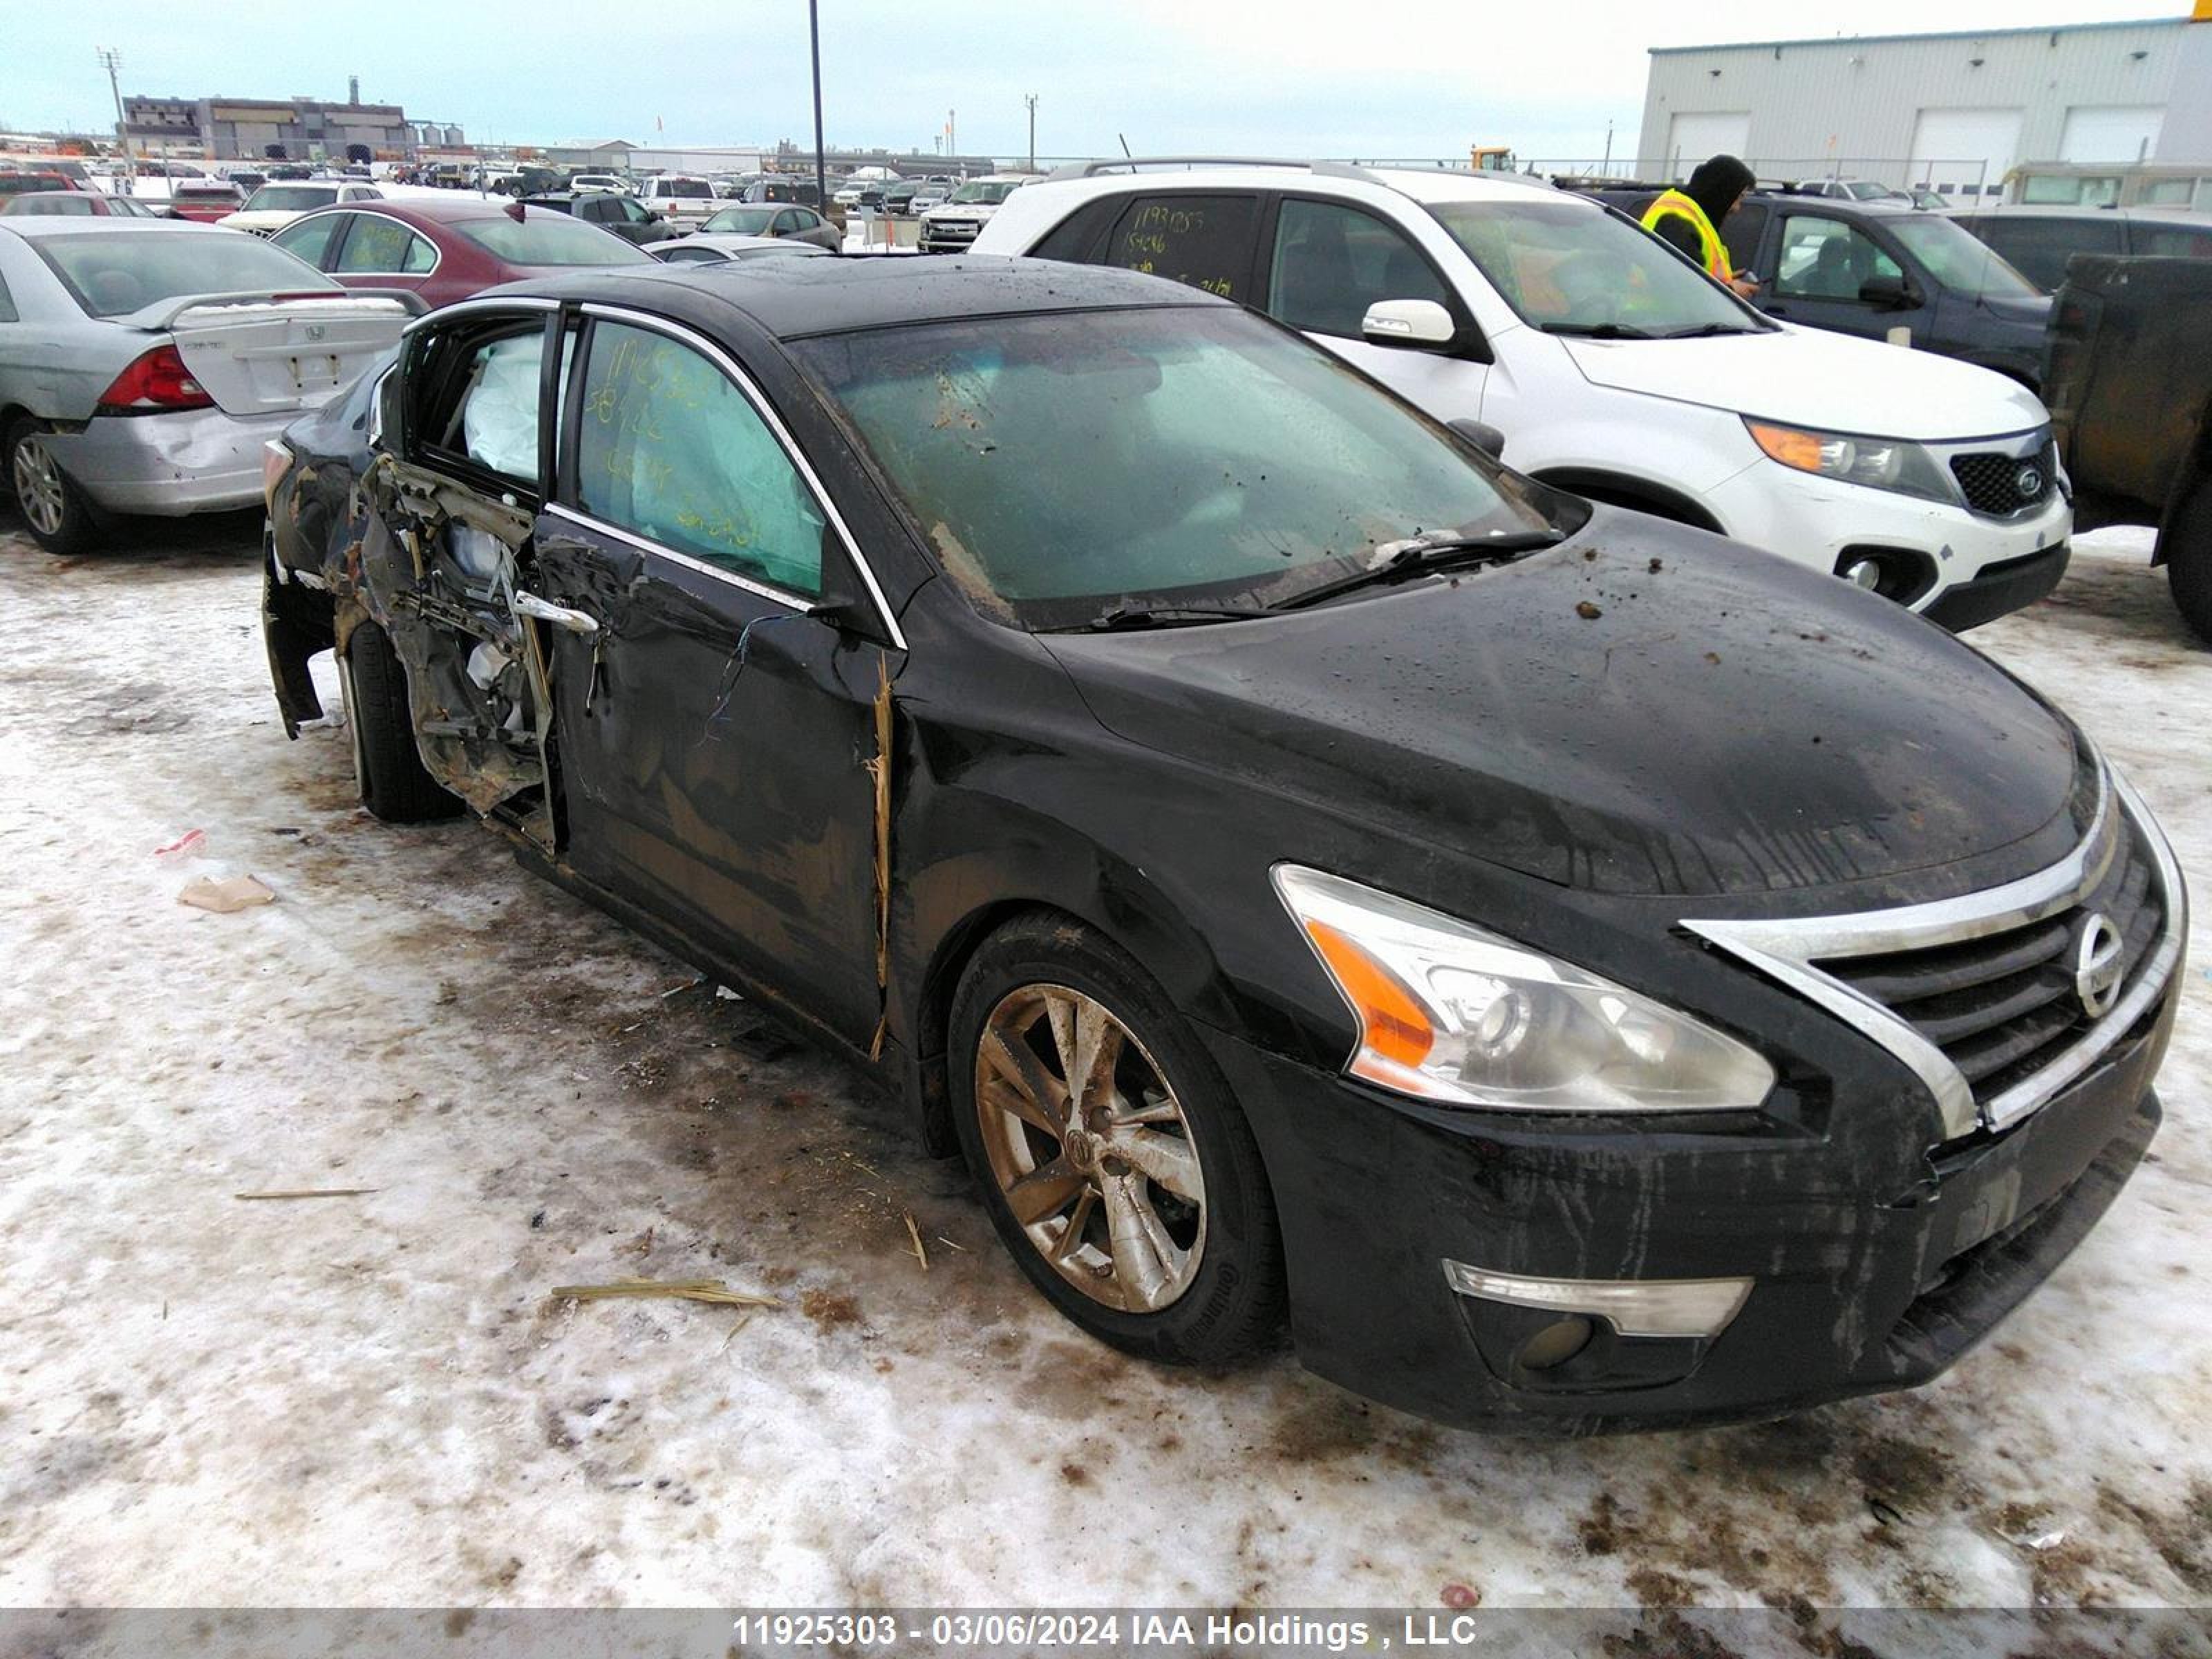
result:
[[[1741,1110],[1774,1086],[1734,1037],[1469,922],[1301,865],[1274,891],[1360,1022],[1354,1077],[1540,1113]]]

